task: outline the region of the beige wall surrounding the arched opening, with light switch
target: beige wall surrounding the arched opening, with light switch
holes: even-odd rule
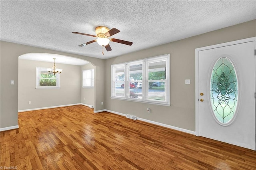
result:
[[[97,96],[97,98],[95,99],[94,110],[99,111],[104,109],[104,105],[101,105],[101,102],[104,102],[105,99],[105,60],[3,41],[0,42],[0,45],[0,128],[18,125],[18,57],[26,53],[54,53],[66,55],[70,57],[84,59],[95,65],[95,95]],[[10,85],[10,80],[14,80],[15,84]]]

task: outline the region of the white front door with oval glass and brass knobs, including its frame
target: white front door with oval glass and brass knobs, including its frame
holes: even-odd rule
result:
[[[255,38],[196,49],[196,134],[256,149]]]

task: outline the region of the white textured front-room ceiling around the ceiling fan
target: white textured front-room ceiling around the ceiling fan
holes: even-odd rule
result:
[[[2,41],[107,59],[256,19],[256,1],[0,1]],[[120,30],[112,51],[94,42],[97,26]]]

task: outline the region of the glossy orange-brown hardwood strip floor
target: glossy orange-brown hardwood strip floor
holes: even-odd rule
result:
[[[255,170],[256,152],[82,106],[18,113],[0,166],[36,169]]]

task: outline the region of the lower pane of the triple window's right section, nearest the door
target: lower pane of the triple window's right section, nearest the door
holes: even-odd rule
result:
[[[148,99],[165,100],[165,82],[155,81],[148,82]]]

